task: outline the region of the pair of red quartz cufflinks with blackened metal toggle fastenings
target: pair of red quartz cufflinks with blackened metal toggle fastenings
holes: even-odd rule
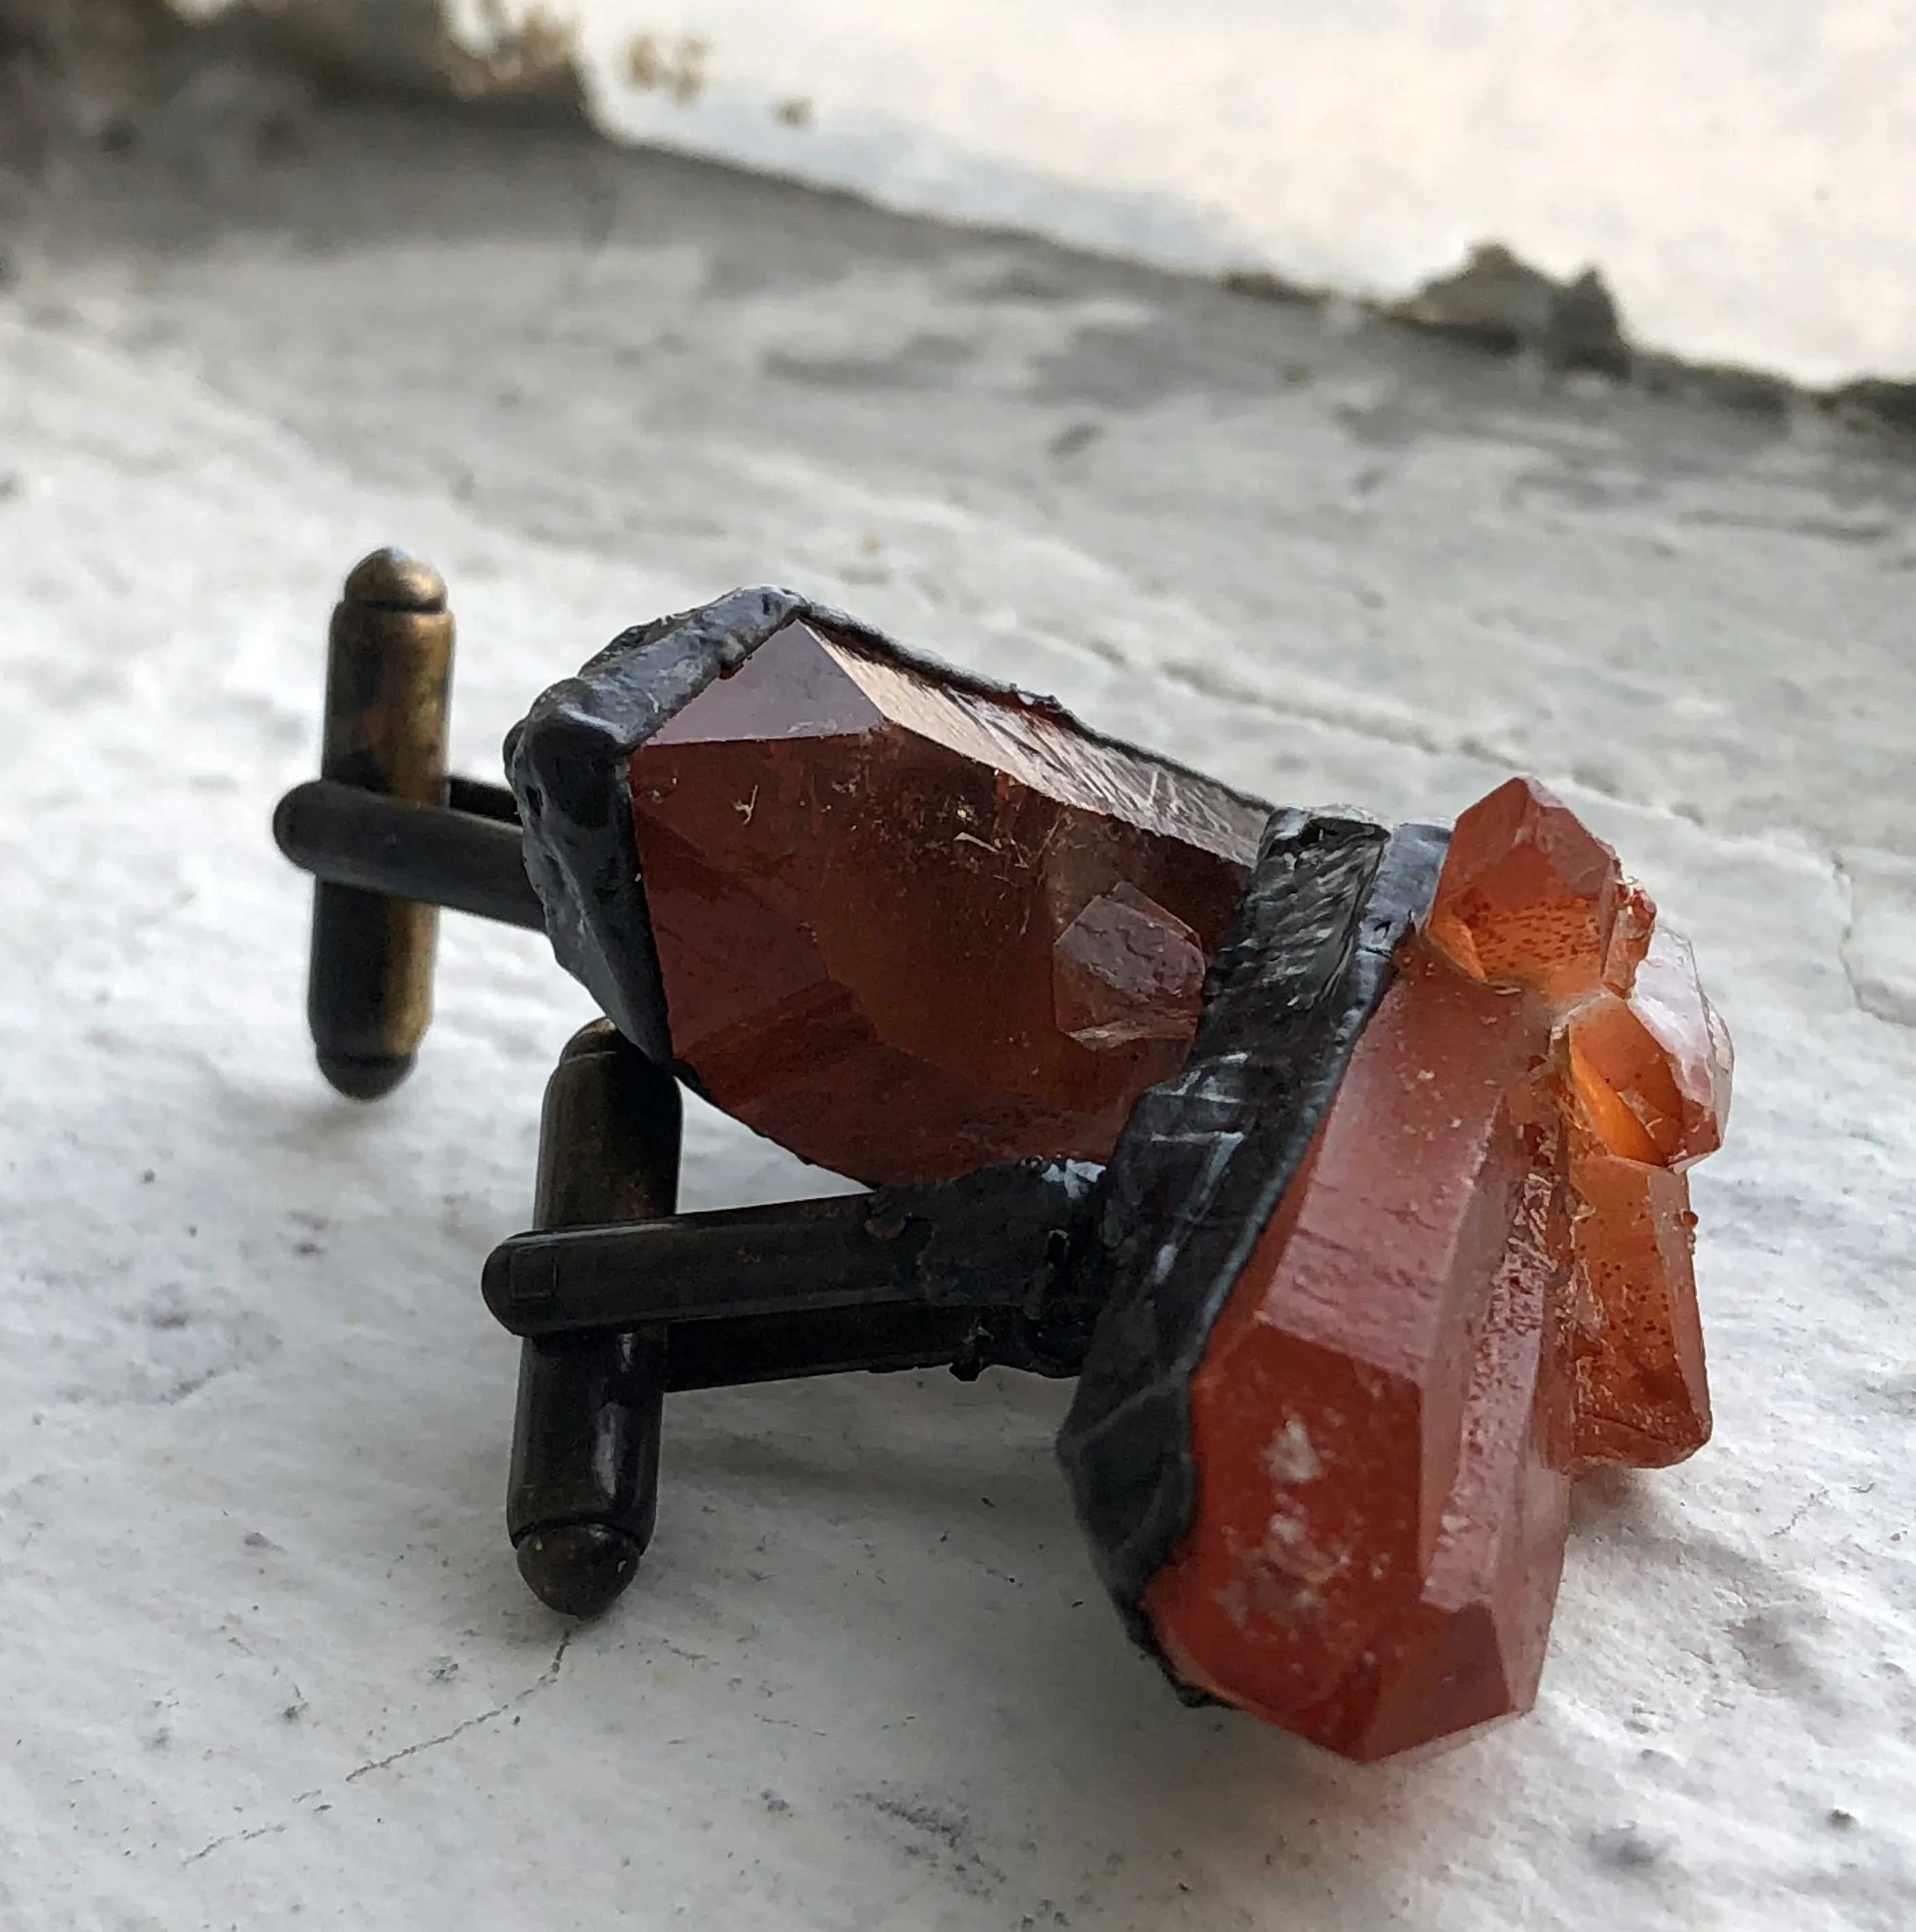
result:
[[[1002,1366],[1078,1378],[1078,1519],[1188,1698],[1356,1758],[1530,1706],[1570,1480],[1709,1434],[1731,1047],[1607,844],[1526,779],[1275,810],[775,589],[541,696],[508,792],[444,773],[450,638],[352,574],[276,835],[344,1092],[411,1065],[435,906],[606,1014],[485,1269],[549,1604],[634,1575],[672,1389]],[[871,1192],[676,1215],[680,1084]]]

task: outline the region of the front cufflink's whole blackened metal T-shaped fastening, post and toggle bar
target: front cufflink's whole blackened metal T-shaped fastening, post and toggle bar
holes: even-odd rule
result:
[[[1016,1169],[956,1184],[674,1215],[678,1086],[601,1020],[547,1088],[535,1233],[493,1252],[520,1337],[508,1530],[552,1609],[632,1582],[670,1391],[989,1362],[1070,1374],[1087,1325],[1031,1323],[1085,1184]]]

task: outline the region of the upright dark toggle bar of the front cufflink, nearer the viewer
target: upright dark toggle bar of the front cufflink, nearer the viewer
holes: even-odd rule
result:
[[[672,1076],[605,1020],[547,1084],[535,1219],[543,1227],[668,1215],[678,1194]],[[520,1573],[552,1609],[597,1615],[632,1580],[659,1511],[662,1329],[527,1341],[506,1528]]]

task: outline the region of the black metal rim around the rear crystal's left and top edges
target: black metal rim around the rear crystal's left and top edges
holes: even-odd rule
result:
[[[794,618],[941,684],[1035,711],[1093,744],[1178,773],[1252,813],[1271,810],[1265,800],[1201,771],[1089,730],[1055,699],[908,651],[869,624],[796,591],[738,589],[695,611],[639,624],[614,638],[576,678],[533,701],[506,734],[506,777],[518,798],[525,871],[545,904],[552,952],[583,981],[606,1018],[662,1065],[672,1063],[672,1045],[639,881],[626,761],[707,684],[738,670]]]

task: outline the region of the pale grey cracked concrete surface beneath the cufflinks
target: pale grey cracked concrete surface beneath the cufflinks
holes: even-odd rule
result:
[[[6,251],[0,1920],[1902,1922],[1906,444],[375,112],[64,172]],[[332,1101],[267,838],[388,539],[452,582],[473,771],[773,580],[1273,798],[1518,767],[1619,842],[1740,1047],[1719,1426],[1586,1484],[1536,1716],[1360,1772],[1178,1708],[1006,1378],[676,1401],[566,1648],[475,1283],[583,999],[448,922],[419,1074]],[[691,1122],[691,1206],[827,1184]]]

